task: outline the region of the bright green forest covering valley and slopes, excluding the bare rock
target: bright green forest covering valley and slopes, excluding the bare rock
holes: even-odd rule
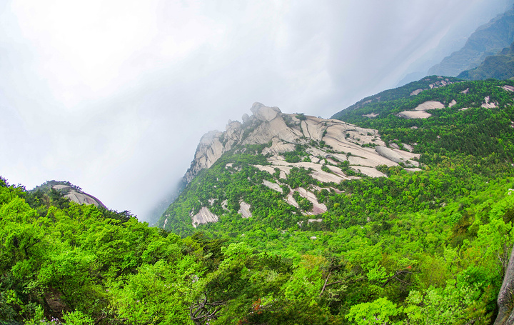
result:
[[[269,144],[239,146],[158,227],[0,179],[0,324],[492,324],[514,244],[514,93],[503,88],[514,81],[410,95],[435,79],[336,114],[412,145],[415,172],[381,165],[387,177],[371,178],[326,161],[359,178],[323,183],[310,169],[261,171]],[[398,116],[425,101],[445,108]],[[287,204],[298,187],[328,211],[306,214],[311,202],[294,192],[298,207]],[[202,206],[219,219],[195,228]]]

